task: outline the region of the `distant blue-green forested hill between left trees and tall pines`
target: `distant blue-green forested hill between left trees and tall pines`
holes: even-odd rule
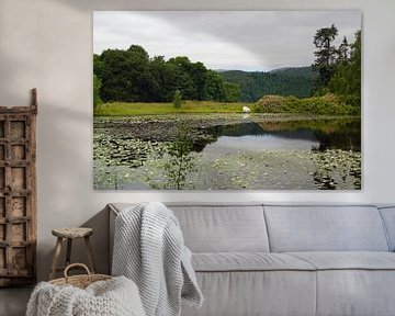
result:
[[[268,72],[218,71],[224,80],[240,86],[240,101],[256,102],[267,94],[311,95],[315,74],[312,67],[285,67]]]

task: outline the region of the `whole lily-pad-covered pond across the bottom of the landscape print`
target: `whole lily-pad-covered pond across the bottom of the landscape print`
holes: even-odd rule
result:
[[[97,190],[360,190],[361,121],[273,114],[95,116]]]

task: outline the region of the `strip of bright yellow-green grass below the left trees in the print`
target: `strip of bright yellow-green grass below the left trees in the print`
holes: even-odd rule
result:
[[[184,101],[176,109],[172,103],[123,103],[112,102],[99,105],[95,116],[134,116],[177,113],[241,113],[246,103],[215,101]]]

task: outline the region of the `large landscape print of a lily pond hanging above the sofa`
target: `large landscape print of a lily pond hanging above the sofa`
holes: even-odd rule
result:
[[[361,12],[93,13],[95,190],[361,190]]]

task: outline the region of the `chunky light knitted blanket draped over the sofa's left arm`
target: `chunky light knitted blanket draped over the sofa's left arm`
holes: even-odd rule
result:
[[[147,316],[178,316],[181,296],[203,302],[191,251],[172,211],[158,202],[124,210],[115,219],[113,275],[136,282]]]

